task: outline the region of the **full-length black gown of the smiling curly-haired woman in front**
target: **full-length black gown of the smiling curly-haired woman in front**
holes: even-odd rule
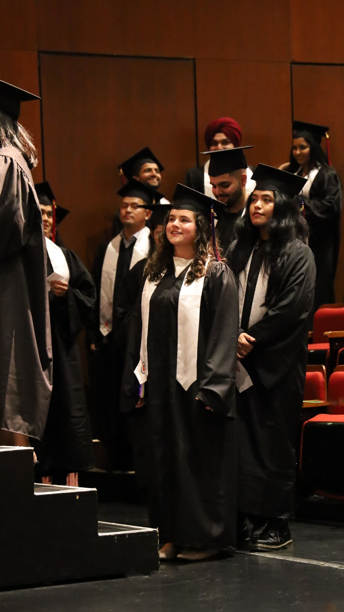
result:
[[[236,535],[237,289],[226,264],[209,264],[200,302],[196,380],[184,390],[176,380],[176,367],[178,300],[186,272],[178,278],[174,270],[166,272],[150,300],[149,521],[159,528],[160,545],[225,549],[235,545]],[[133,408],[138,398],[133,370],[140,359],[140,341],[138,299],[130,325],[123,409]]]

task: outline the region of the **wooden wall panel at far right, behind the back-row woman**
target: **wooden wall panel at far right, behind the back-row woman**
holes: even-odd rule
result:
[[[331,162],[344,181],[344,66],[293,66],[294,119],[330,126]],[[342,236],[344,215],[342,214]],[[344,244],[335,283],[337,301],[344,296]]]

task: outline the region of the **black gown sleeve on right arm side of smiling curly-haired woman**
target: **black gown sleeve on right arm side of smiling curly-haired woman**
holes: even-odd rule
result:
[[[203,291],[209,300],[212,323],[196,396],[214,411],[234,417],[239,304],[230,268],[224,263],[217,264]]]

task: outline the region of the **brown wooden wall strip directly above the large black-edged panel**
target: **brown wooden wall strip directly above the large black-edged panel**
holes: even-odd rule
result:
[[[39,49],[192,57],[197,0],[36,0]]]

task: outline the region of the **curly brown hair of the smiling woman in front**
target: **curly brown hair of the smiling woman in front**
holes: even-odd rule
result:
[[[168,241],[166,236],[166,225],[168,223],[168,218],[165,222],[164,228],[159,235],[159,242],[155,249],[155,252],[148,259],[145,274],[146,277],[152,282],[157,282],[162,278],[162,275],[165,271],[170,272],[173,270],[173,255],[174,255],[174,247],[171,242]],[[187,277],[185,280],[186,285],[191,285],[191,283],[196,278],[201,278],[206,273],[206,263],[208,257],[210,256],[212,259],[215,258],[214,247],[212,244],[212,236],[211,236],[211,224],[209,221],[201,215],[200,213],[195,213],[195,223],[196,223],[196,239],[195,244],[193,245],[195,251],[195,258],[193,259],[190,270],[187,273]],[[220,247],[219,239],[217,237],[216,232],[216,247],[217,252],[220,257],[223,256],[222,248]]]

